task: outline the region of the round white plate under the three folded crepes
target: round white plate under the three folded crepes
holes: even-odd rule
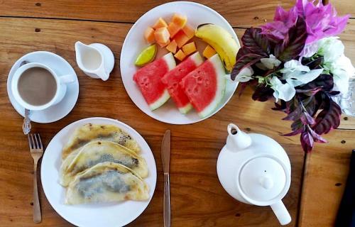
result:
[[[69,140],[70,134],[75,128],[86,123],[112,124],[119,126],[129,133],[134,140],[141,146],[141,156],[146,160],[148,166],[148,177],[144,179],[149,187],[149,199],[146,201],[122,201],[119,203],[103,204],[80,204],[66,205],[65,188],[59,184],[59,169],[62,163],[62,147]],[[75,226],[97,227],[97,226],[125,226],[146,209],[153,198],[157,179],[156,165],[151,148],[146,140],[139,133],[121,121],[111,118],[84,118],[75,121],[57,133],[47,148],[42,158],[40,167],[40,179],[43,191],[50,205],[60,216],[65,218]]]

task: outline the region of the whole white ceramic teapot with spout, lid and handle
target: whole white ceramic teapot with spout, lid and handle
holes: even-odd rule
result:
[[[226,145],[217,160],[217,175],[222,186],[239,201],[271,206],[281,225],[291,216],[283,204],[291,182],[291,165],[285,150],[272,138],[244,133],[229,124]]]

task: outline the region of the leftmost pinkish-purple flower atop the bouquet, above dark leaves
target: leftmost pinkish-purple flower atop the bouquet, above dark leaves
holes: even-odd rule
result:
[[[261,26],[261,34],[268,35],[271,40],[276,43],[283,40],[287,35],[288,30],[292,28],[297,21],[297,7],[294,6],[290,11],[285,11],[281,6],[278,6],[275,11],[272,23],[266,23]]]

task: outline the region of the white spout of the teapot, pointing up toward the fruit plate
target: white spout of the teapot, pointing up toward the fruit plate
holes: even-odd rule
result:
[[[226,148],[230,151],[239,151],[248,148],[251,145],[251,137],[238,126],[230,123],[227,127],[228,137],[226,138]]]

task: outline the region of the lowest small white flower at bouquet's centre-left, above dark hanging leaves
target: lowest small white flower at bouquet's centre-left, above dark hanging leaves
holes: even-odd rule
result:
[[[296,90],[292,85],[288,83],[283,84],[278,77],[271,78],[270,83],[271,88],[275,91],[273,92],[273,96],[275,97],[276,102],[278,99],[290,101],[296,94]]]

